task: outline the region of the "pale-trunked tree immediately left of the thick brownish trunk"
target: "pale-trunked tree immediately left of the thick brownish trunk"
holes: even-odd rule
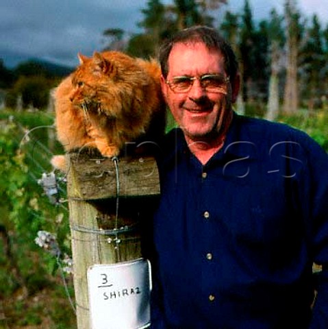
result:
[[[270,40],[270,81],[268,88],[268,103],[266,119],[275,120],[279,114],[279,73],[281,71],[281,56],[284,43],[282,29],[283,17],[276,10],[270,12],[268,22],[268,40]]]

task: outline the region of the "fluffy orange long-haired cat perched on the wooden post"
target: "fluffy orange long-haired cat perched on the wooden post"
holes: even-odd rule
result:
[[[164,134],[165,104],[155,60],[119,51],[79,55],[79,60],[54,93],[57,136],[66,151],[97,148],[113,157],[140,136],[153,141],[155,134]],[[64,156],[51,163],[63,169]]]

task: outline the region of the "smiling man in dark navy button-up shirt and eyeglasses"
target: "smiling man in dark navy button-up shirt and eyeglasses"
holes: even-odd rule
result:
[[[327,154],[234,113],[238,64],[214,29],[177,33],[160,62],[179,129],[159,162],[151,328],[328,328]]]

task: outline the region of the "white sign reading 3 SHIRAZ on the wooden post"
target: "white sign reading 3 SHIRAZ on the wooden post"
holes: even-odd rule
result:
[[[150,326],[151,269],[140,258],[88,269],[92,329],[141,329]]]

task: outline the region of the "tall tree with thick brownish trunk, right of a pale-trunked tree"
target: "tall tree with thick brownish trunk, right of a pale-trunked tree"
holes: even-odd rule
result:
[[[283,97],[283,112],[295,113],[299,107],[299,89],[297,81],[297,60],[301,40],[301,15],[297,10],[296,0],[286,0],[286,83]]]

